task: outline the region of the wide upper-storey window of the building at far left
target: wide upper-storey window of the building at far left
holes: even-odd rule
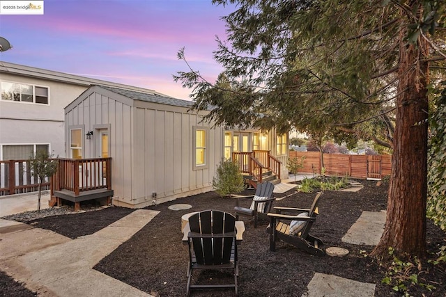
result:
[[[2,100],[48,104],[48,88],[45,87],[2,81],[0,89]]]

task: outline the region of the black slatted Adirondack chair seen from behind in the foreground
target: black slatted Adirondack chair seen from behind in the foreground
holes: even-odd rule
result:
[[[183,230],[183,243],[189,247],[187,266],[187,290],[234,288],[238,295],[237,245],[243,240],[245,225],[227,212],[218,210],[199,211],[190,216]],[[198,269],[231,269],[234,280],[230,284],[192,284],[192,273]]]

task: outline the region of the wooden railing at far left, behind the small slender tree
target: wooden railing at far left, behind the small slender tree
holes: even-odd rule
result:
[[[49,189],[45,179],[42,189]],[[38,191],[38,177],[31,173],[29,160],[0,161],[0,196]]]

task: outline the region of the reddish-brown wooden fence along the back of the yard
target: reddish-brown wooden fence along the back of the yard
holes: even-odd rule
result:
[[[304,167],[299,172],[321,172],[319,152],[290,152],[290,158],[305,156]],[[381,179],[392,172],[392,156],[387,154],[323,154],[325,174],[349,176],[359,179]]]

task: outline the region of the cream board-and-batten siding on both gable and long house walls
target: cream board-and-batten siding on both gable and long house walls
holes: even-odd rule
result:
[[[200,123],[202,114],[187,108],[141,102],[92,87],[66,108],[66,150],[70,155],[70,128],[83,129],[83,158],[95,155],[95,141],[87,131],[109,127],[112,157],[113,203],[146,207],[212,190],[222,159],[223,129]],[[194,170],[193,127],[205,127],[207,166]],[[156,198],[153,198],[156,193]]]

